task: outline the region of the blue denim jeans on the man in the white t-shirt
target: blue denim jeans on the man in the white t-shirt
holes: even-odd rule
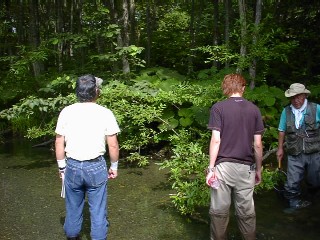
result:
[[[105,240],[108,233],[107,220],[108,172],[104,157],[89,161],[67,158],[65,172],[66,218],[64,231],[67,237],[80,234],[83,222],[85,195],[88,197],[91,238]]]

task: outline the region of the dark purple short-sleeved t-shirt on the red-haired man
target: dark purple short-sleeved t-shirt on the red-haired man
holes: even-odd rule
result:
[[[224,161],[254,162],[254,135],[264,131],[259,108],[242,97],[230,97],[214,104],[208,128],[220,132],[216,165]]]

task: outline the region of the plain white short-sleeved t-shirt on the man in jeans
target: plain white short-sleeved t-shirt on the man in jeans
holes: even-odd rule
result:
[[[106,152],[106,136],[120,132],[113,113],[96,103],[75,103],[65,107],[55,132],[65,137],[66,156],[94,159]]]

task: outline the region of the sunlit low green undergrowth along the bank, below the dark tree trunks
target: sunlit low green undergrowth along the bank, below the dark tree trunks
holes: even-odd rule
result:
[[[104,81],[98,103],[116,115],[124,161],[146,166],[150,152],[161,147],[170,149],[171,157],[162,159],[160,168],[169,169],[169,181],[175,191],[171,198],[181,214],[193,214],[198,207],[208,205],[204,170],[209,161],[211,132],[207,123],[211,106],[225,99],[221,80],[231,71],[212,68],[199,72],[195,79],[186,79],[168,69],[152,68],[130,81]],[[50,97],[22,99],[1,111],[0,117],[29,138],[53,138],[59,112],[76,102],[74,81],[74,76],[56,79],[42,89]],[[72,91],[60,92],[63,84]],[[245,97],[257,104],[263,115],[265,151],[276,147],[278,119],[287,104],[282,96],[282,90],[266,85],[245,92]],[[153,149],[154,146],[157,147]],[[264,171],[264,176],[268,176],[267,167]],[[270,189],[269,183],[257,190]]]

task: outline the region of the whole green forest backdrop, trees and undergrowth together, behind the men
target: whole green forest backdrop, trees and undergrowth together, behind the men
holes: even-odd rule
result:
[[[320,93],[320,2],[263,1],[258,24],[256,1],[245,2],[243,28],[236,0],[1,1],[0,131],[53,138],[59,112],[76,101],[75,79],[92,73],[105,79],[99,104],[119,121],[125,161],[145,166],[168,149],[160,165],[170,170],[172,200],[194,213],[208,204],[206,126],[225,74],[248,80],[265,151],[277,145],[284,89],[301,82],[312,100]],[[272,166],[264,170],[257,191],[273,187]]]

